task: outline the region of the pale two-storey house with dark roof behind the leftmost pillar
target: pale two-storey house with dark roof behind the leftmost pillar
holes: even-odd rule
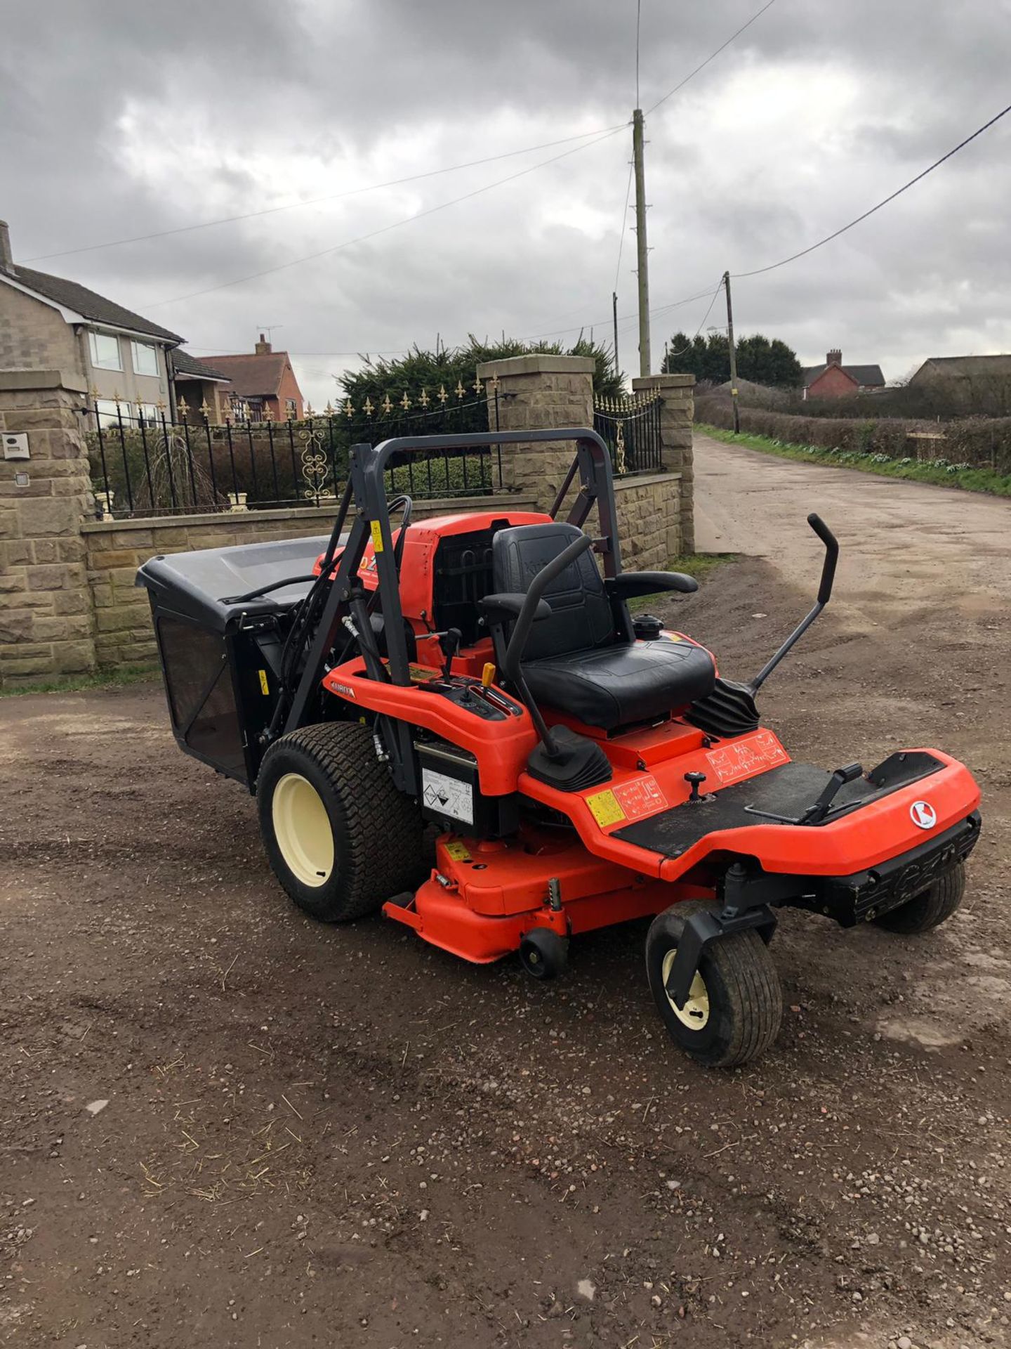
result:
[[[102,422],[117,406],[123,417],[156,418],[171,397],[168,352],[181,341],[75,281],[16,263],[0,220],[0,370],[75,374]]]

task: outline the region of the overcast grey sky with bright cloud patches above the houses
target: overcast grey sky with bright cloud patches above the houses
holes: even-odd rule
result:
[[[642,0],[642,107],[760,5]],[[1010,57],[1011,0],[776,0],[647,116],[654,362],[709,301],[665,306],[911,178],[1011,101]],[[623,232],[619,314],[635,313],[631,128],[356,189],[603,132],[634,105],[635,0],[0,0],[0,216],[28,263],[293,208],[30,264],[197,355],[274,325],[321,406],[352,352],[581,325],[609,340]],[[1011,116],[842,239],[740,281],[737,332],[803,363],[841,347],[888,379],[1011,351],[1010,151]],[[706,324],[723,321],[717,301]],[[630,317],[619,344],[638,374]]]

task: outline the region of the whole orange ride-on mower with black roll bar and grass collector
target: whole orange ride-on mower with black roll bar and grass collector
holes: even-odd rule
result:
[[[387,500],[394,456],[538,440],[576,448],[547,514],[412,523],[408,498]],[[818,600],[744,684],[630,615],[697,587],[621,571],[592,430],[356,445],[329,540],[155,557],[137,583],[177,739],[256,793],[295,904],[324,921],[381,908],[465,960],[519,951],[542,979],[572,936],[652,917],[661,1017],[694,1059],[729,1066],[779,1027],[779,907],[923,932],[958,907],[980,831],[979,789],[940,750],[828,772],[759,724],[755,695],[832,592],[838,545],[807,521]]]

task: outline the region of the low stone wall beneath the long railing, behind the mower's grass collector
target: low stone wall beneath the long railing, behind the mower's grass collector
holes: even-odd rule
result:
[[[414,519],[450,511],[532,510],[530,496],[446,498],[418,500]],[[155,639],[147,591],[137,588],[137,567],[160,553],[197,548],[229,548],[272,538],[329,534],[334,506],[291,510],[226,511],[166,519],[88,521],[81,525],[88,557],[88,585],[94,608],[94,650],[98,665],[146,665],[155,660]]]

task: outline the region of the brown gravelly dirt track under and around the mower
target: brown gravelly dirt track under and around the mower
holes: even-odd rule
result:
[[[1011,1342],[1011,506],[713,442],[698,465],[702,517],[771,561],[678,625],[752,672],[809,599],[821,510],[838,599],[763,712],[828,765],[965,758],[962,911],[921,939],[787,912],[776,1047],[705,1072],[655,1017],[643,927],[549,986],[319,928],[158,685],[5,700],[0,1338]]]

